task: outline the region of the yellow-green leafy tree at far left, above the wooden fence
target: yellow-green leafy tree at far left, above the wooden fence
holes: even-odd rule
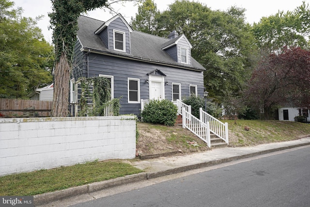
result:
[[[13,1],[0,0],[0,97],[27,98],[52,82],[53,47],[36,19],[22,17]]]

